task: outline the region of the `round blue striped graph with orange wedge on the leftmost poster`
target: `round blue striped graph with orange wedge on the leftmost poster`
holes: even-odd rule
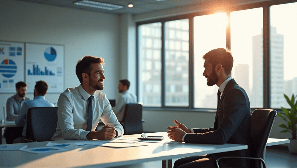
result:
[[[11,59],[5,59],[0,64],[0,73],[2,76],[10,78],[15,76],[17,66]]]

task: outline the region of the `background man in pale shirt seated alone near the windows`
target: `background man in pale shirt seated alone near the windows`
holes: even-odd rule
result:
[[[112,108],[113,112],[116,114],[116,117],[119,121],[123,120],[125,105],[129,103],[137,103],[136,95],[129,93],[128,89],[130,87],[130,82],[127,79],[119,81],[119,92],[121,96],[116,101],[116,106]]]

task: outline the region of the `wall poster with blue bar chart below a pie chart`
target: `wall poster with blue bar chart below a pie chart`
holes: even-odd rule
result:
[[[64,46],[26,43],[27,92],[33,93],[37,81],[48,83],[48,93],[64,91]]]

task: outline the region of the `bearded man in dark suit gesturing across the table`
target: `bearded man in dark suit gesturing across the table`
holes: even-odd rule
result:
[[[208,129],[187,129],[184,124],[174,121],[177,126],[168,127],[170,139],[186,143],[203,144],[243,144],[246,150],[236,150],[209,155],[178,159],[174,167],[216,167],[217,158],[228,155],[250,155],[251,115],[247,93],[231,77],[233,57],[230,50],[217,48],[203,56],[207,85],[217,85],[218,105],[214,127]],[[222,167],[248,167],[245,159],[222,159]]]

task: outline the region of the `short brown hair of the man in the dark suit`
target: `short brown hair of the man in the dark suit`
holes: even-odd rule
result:
[[[217,64],[221,63],[223,68],[225,69],[226,74],[230,75],[233,67],[233,56],[231,50],[228,48],[217,48],[209,51],[203,57],[205,59],[209,59],[209,63],[212,64],[212,67],[217,66]]]

